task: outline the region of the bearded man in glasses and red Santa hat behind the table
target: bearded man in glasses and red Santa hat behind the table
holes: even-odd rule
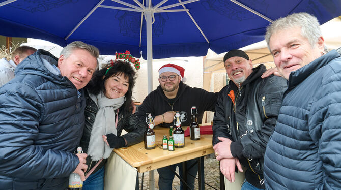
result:
[[[151,113],[155,125],[169,128],[169,126],[173,125],[175,112],[178,111],[183,116],[182,126],[189,126],[192,106],[196,106],[198,121],[203,119],[205,111],[214,111],[218,93],[187,86],[183,83],[186,81],[184,72],[184,68],[174,64],[166,64],[159,69],[158,80],[160,85],[138,107],[136,114],[140,120],[144,121],[146,113]],[[194,159],[189,160],[187,166],[190,167],[193,163],[195,163]],[[182,177],[182,163],[169,167],[175,171],[177,166]],[[187,170],[189,174],[196,176],[197,167],[194,166]],[[160,190],[171,190],[175,174],[168,167],[159,168],[157,171],[159,173]],[[191,189],[194,189],[195,178],[191,175],[187,176],[187,184]],[[183,189],[182,182],[180,185],[180,189]]]

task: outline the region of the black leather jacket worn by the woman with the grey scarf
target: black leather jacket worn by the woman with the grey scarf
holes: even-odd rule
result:
[[[91,130],[95,122],[96,114],[98,112],[98,107],[96,103],[89,97],[88,90],[84,90],[86,97],[86,109],[85,115],[85,128],[83,131],[83,136],[80,140],[80,146],[82,147],[84,153],[87,153],[90,141]],[[117,110],[115,110],[115,115]],[[143,141],[144,132],[147,129],[143,122],[139,122],[135,114],[124,115],[123,111],[119,111],[118,123],[117,123],[117,135],[121,136],[122,130],[124,129],[127,134],[122,137],[126,140],[127,146],[137,144]],[[106,159],[97,166],[97,168],[92,172],[95,173],[102,166],[104,166]],[[87,157],[87,172],[96,164],[96,161],[92,161],[90,156]],[[86,172],[86,173],[87,173]]]

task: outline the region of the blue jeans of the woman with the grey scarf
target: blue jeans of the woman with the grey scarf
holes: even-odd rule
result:
[[[104,166],[97,172],[92,173],[83,182],[82,190],[103,190],[104,189]]]

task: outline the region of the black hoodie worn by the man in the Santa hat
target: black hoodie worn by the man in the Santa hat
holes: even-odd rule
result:
[[[179,84],[179,90],[173,104],[168,102],[161,86],[150,92],[143,103],[138,107],[137,116],[141,122],[145,122],[146,113],[151,113],[153,118],[167,111],[179,111],[184,115],[182,126],[189,126],[191,123],[191,107],[196,106],[197,120],[201,122],[205,111],[214,111],[218,92],[208,92],[201,88],[192,88],[184,84]],[[169,128],[173,123],[161,123],[159,126]]]

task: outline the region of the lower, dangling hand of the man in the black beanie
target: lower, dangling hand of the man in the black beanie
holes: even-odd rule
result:
[[[230,182],[235,182],[235,169],[243,172],[242,165],[238,159],[221,159],[220,171]]]

